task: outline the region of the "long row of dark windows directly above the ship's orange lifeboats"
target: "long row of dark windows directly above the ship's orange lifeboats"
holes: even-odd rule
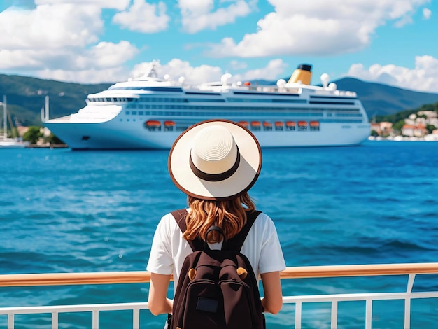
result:
[[[216,116],[221,117],[226,114],[226,116],[241,116],[241,113],[236,112],[188,112],[188,111],[125,111],[127,116]],[[354,118],[362,118],[362,114],[358,112],[353,113],[327,113],[327,116],[336,116],[336,117],[354,117]],[[248,112],[245,113],[245,116],[260,116],[260,113],[257,112]],[[303,117],[303,116],[312,116],[312,117],[323,117],[323,113],[311,113],[309,111],[306,112],[296,112],[296,113],[288,113],[288,112],[269,112],[269,116],[277,116],[277,117]]]

